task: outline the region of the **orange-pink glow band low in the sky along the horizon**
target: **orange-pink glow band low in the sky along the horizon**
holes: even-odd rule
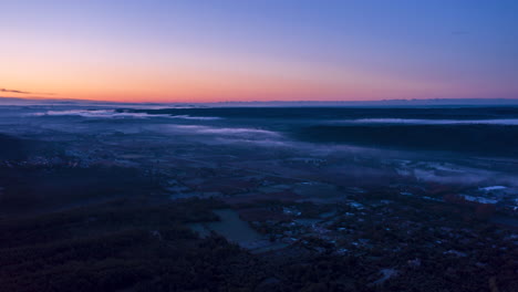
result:
[[[362,72],[320,69],[318,77],[300,70],[282,76],[257,72],[214,72],[198,69],[151,70],[141,67],[65,66],[29,73],[0,71],[0,87],[31,94],[3,96],[72,98],[108,102],[207,103],[227,101],[375,101],[386,98],[472,97],[480,90],[459,85],[402,81]],[[18,74],[17,74],[18,73]],[[493,90],[493,88],[491,88]],[[489,91],[489,88],[488,88]],[[493,90],[494,91],[494,90]],[[42,93],[54,93],[45,95]]]

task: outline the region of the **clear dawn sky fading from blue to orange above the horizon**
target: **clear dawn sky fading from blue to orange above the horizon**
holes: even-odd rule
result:
[[[518,98],[515,0],[0,0],[0,96]]]

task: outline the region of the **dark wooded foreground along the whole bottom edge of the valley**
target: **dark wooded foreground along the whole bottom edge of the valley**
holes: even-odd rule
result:
[[[425,239],[408,241],[406,250],[394,254],[336,255],[332,247],[319,249],[328,243],[318,238],[308,238],[309,248],[294,244],[251,254],[218,234],[201,239],[188,228],[190,222],[218,220],[211,210],[221,207],[205,199],[174,204],[124,199],[2,219],[0,286],[39,292],[487,291],[490,283],[500,291],[518,288],[518,250],[509,244],[500,250],[501,238],[489,228],[480,234],[498,248],[483,248],[475,259],[426,248]],[[416,258],[419,264],[407,263]],[[385,268],[397,274],[373,284]]]

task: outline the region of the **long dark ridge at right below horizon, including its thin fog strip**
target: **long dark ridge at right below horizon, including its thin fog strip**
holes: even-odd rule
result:
[[[380,148],[516,156],[518,107],[217,107],[120,109],[118,113],[228,119],[296,139]]]

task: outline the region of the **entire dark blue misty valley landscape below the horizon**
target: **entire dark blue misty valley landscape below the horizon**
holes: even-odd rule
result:
[[[0,106],[0,286],[516,291],[516,137],[495,105]]]

